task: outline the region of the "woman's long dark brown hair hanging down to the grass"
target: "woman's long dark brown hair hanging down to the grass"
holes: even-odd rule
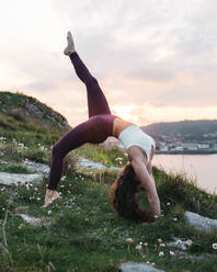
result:
[[[118,215],[136,223],[152,222],[153,215],[141,209],[136,201],[137,186],[140,184],[130,163],[126,165],[111,186],[110,200]]]

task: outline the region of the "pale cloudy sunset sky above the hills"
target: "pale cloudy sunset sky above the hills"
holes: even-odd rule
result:
[[[67,31],[113,114],[148,125],[217,118],[216,0],[0,0],[0,90],[88,118]]]

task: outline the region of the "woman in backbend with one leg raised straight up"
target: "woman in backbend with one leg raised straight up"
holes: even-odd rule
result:
[[[85,143],[99,144],[108,136],[114,136],[124,145],[129,157],[129,163],[112,186],[111,199],[114,207],[119,215],[137,222],[160,216],[160,202],[151,173],[155,140],[135,124],[111,113],[96,79],[77,54],[70,32],[67,41],[68,46],[64,53],[69,56],[77,76],[87,87],[89,120],[72,128],[54,146],[44,207],[59,197],[56,190],[62,174],[65,156]],[[147,192],[151,216],[140,211],[135,202],[135,193],[139,190]]]

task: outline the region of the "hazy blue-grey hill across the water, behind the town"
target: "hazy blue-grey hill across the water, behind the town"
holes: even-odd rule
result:
[[[156,139],[217,140],[217,120],[155,123],[141,127]]]

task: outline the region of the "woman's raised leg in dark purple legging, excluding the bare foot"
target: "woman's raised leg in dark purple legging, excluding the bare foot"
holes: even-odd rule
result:
[[[98,80],[90,73],[76,52],[69,57],[73,64],[76,73],[87,87],[89,117],[98,114],[111,114],[108,103]]]

